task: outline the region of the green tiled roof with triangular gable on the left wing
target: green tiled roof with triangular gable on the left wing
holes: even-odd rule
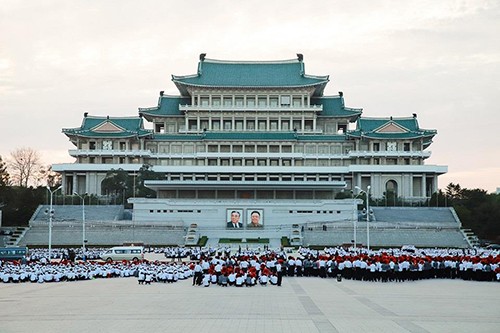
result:
[[[97,117],[86,115],[82,125],[77,128],[64,128],[67,136],[88,138],[128,138],[151,135],[151,130],[144,129],[141,117]]]

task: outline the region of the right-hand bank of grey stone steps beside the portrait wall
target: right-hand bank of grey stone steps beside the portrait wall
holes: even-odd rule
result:
[[[356,227],[356,228],[355,228]],[[356,229],[356,230],[355,230]],[[373,207],[369,225],[366,216],[354,221],[304,225],[304,245],[371,247],[455,247],[475,246],[473,235],[461,229],[452,208]]]

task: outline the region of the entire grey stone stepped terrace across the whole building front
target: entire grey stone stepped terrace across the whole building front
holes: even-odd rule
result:
[[[19,228],[8,245],[47,246],[48,206],[40,206],[33,214],[29,228]],[[78,246],[83,243],[82,206],[54,206],[52,246]],[[368,234],[371,247],[458,247],[475,246],[477,238],[461,229],[452,208],[373,207],[369,225],[366,216],[356,221],[332,221],[279,226],[262,229],[208,228],[183,222],[147,222],[130,219],[122,206],[86,206],[85,238],[87,246],[144,243],[149,245],[197,246],[200,239],[206,246],[279,248],[290,246],[366,246]],[[356,226],[356,227],[355,227]],[[368,228],[367,228],[368,227]],[[356,235],[355,235],[356,234]]]

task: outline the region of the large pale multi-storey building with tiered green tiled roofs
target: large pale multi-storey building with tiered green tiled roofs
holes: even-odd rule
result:
[[[327,96],[327,75],[305,72],[303,56],[282,61],[222,61],[200,55],[197,71],[173,75],[176,96],[133,117],[84,115],[63,129],[72,164],[57,164],[65,193],[102,192],[106,172],[145,164],[165,173],[147,182],[156,199],[134,198],[134,219],[208,225],[231,212],[265,225],[353,219],[339,192],[370,189],[421,202],[437,191],[446,166],[426,165],[435,130],[417,115],[362,116],[344,94]],[[145,129],[144,121],[152,130]]]

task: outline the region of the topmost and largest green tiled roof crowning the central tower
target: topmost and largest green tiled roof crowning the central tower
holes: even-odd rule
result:
[[[227,88],[272,88],[317,86],[316,96],[323,94],[328,76],[306,75],[298,59],[282,61],[221,61],[204,59],[194,75],[172,75],[181,95],[186,86]]]

